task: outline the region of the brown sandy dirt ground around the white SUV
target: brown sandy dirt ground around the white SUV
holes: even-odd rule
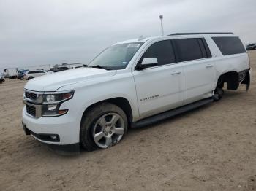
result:
[[[256,71],[256,51],[250,52]],[[110,149],[56,155],[21,127],[24,81],[0,85],[0,190],[256,190],[256,82]]]

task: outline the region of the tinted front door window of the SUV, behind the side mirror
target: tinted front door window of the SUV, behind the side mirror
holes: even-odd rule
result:
[[[152,44],[151,47],[149,47],[144,55],[140,58],[139,63],[143,61],[143,58],[157,58],[157,65],[175,63],[173,46],[170,43],[170,40],[165,40]]]

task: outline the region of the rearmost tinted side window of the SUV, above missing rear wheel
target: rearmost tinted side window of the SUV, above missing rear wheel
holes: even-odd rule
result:
[[[219,47],[222,55],[235,55],[246,52],[243,43],[238,37],[212,37],[212,39]]]

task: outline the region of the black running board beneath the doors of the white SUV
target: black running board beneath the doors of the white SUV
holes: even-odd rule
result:
[[[192,104],[188,104],[186,106],[178,107],[177,109],[172,109],[170,111],[163,112],[161,114],[156,114],[152,117],[147,117],[146,119],[139,120],[138,122],[132,122],[131,128],[140,128],[140,127],[143,127],[143,126],[146,126],[146,125],[152,125],[155,122],[165,120],[169,117],[174,117],[178,114],[188,112],[192,109],[196,109],[197,107],[204,106],[204,105],[209,104],[211,102],[213,102],[213,99],[212,98],[207,98],[207,99],[203,99],[203,100],[197,101],[197,102],[192,103]]]

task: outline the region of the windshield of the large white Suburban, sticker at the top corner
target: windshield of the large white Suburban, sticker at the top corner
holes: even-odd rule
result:
[[[125,69],[143,43],[116,44],[108,47],[94,58],[89,67],[103,69]]]

